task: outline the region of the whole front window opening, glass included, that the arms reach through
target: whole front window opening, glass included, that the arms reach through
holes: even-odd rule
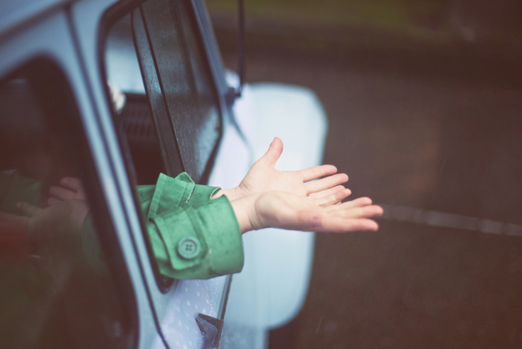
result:
[[[107,26],[107,90],[135,184],[183,171],[205,183],[213,165],[220,108],[191,11],[189,1],[149,0]],[[170,283],[159,275],[144,235],[166,291]]]

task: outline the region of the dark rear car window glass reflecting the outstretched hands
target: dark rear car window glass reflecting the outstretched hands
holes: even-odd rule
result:
[[[1,348],[131,345],[132,305],[112,278],[119,252],[82,132],[53,63],[0,82]]]

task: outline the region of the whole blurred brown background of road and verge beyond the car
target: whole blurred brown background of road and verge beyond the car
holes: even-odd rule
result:
[[[237,68],[235,0],[208,0]],[[383,204],[316,237],[276,348],[522,348],[522,1],[245,0],[246,80],[314,90],[324,162]]]

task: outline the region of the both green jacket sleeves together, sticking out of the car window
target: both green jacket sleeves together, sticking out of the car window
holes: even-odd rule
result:
[[[218,190],[194,184],[184,172],[176,178],[161,174],[155,187],[138,187],[161,274],[212,278],[241,271],[238,221],[226,197],[210,200]]]

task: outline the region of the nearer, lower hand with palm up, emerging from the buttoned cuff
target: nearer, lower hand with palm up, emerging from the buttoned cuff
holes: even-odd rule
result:
[[[242,234],[268,227],[337,233],[375,231],[377,223],[368,218],[380,216],[383,209],[371,203],[371,199],[362,197],[343,204],[319,206],[306,196],[287,192],[263,192],[230,202]]]

